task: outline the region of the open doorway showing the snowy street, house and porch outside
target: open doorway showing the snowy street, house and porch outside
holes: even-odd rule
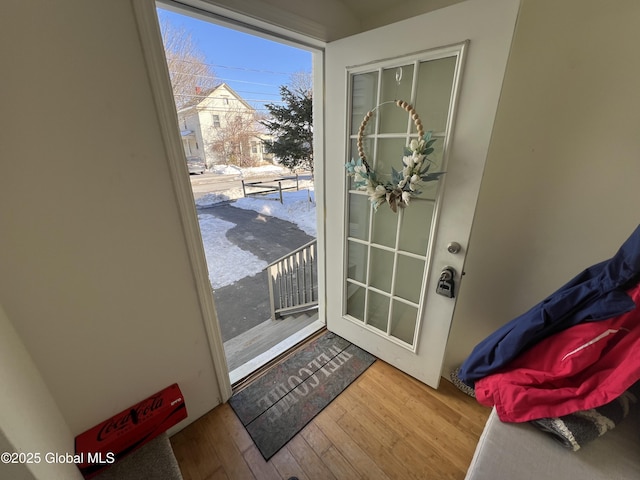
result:
[[[284,111],[308,115],[313,133],[312,53],[191,10],[157,13],[234,384],[324,326],[313,142],[283,151],[277,128]]]

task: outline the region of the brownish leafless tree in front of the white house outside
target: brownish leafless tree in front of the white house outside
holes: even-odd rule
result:
[[[258,125],[255,114],[229,110],[221,119],[220,126],[212,127],[211,151],[226,164],[257,166],[260,157],[251,154],[251,142],[260,143]]]

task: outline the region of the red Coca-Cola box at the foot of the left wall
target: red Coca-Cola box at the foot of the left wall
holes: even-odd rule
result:
[[[85,479],[97,475],[187,418],[177,383],[76,437],[75,461]]]

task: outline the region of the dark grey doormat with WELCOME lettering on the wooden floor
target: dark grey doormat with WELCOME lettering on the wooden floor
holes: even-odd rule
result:
[[[327,332],[233,395],[229,404],[269,460],[375,360]]]

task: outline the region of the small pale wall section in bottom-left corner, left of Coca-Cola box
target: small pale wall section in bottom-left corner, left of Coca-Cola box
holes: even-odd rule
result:
[[[0,478],[82,479],[74,464],[46,461],[49,452],[73,454],[73,435],[2,305],[0,385],[0,452],[40,455],[39,462],[0,463]]]

